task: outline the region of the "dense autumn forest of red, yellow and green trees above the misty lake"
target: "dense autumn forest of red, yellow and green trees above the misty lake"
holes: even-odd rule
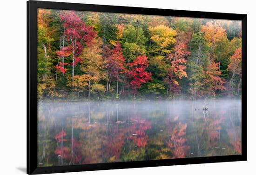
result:
[[[38,9],[38,99],[241,97],[241,21]]]

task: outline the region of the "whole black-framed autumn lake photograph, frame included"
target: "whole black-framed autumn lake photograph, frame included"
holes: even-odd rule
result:
[[[245,161],[246,27],[27,1],[27,174]]]

